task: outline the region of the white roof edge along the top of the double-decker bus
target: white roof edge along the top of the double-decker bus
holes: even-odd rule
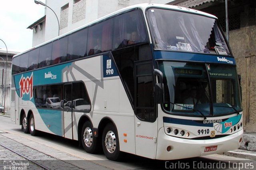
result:
[[[21,55],[21,54],[23,54],[23,53],[26,53],[26,52],[28,52],[28,51],[30,51],[30,50],[32,50],[32,49],[35,49],[35,48],[40,47],[40,46],[42,46],[42,45],[45,45],[45,44],[47,44],[47,43],[50,43],[50,42],[53,42],[53,41],[58,40],[58,39],[60,39],[60,38],[63,38],[63,37],[65,37],[65,36],[69,35],[69,34],[72,34],[73,32],[76,32],[76,31],[82,29],[82,28],[86,28],[86,27],[92,26],[92,25],[94,25],[94,24],[96,24],[96,23],[98,23],[98,22],[100,22],[100,21],[107,20],[108,18],[111,18],[111,17],[116,16],[116,15],[118,15],[118,14],[122,14],[122,13],[124,13],[124,12],[128,12],[128,11],[130,11],[130,10],[134,10],[134,9],[136,9],[136,8],[142,9],[143,11],[145,11],[147,8],[162,8],[162,9],[168,9],[168,10],[176,10],[176,11],[180,11],[180,12],[188,12],[188,13],[191,13],[191,14],[198,14],[198,15],[203,15],[203,16],[207,16],[207,17],[210,17],[210,18],[216,18],[216,19],[217,19],[217,17],[214,16],[214,15],[212,15],[212,14],[208,14],[208,13],[206,13],[206,12],[194,10],[194,9],[191,9],[191,8],[185,8],[185,7],[181,7],[181,6],[166,5],[166,4],[155,4],[155,3],[135,4],[135,5],[131,5],[131,6],[122,8],[122,9],[120,9],[120,10],[117,10],[117,11],[112,12],[112,13],[110,13],[110,14],[107,14],[106,16],[103,16],[103,17],[101,17],[101,18],[98,18],[98,19],[96,19],[96,20],[94,20],[94,21],[92,21],[92,22],[86,23],[86,24],[84,24],[83,26],[80,26],[80,27],[78,27],[78,28],[75,28],[74,30],[71,30],[71,31],[69,31],[69,32],[66,32],[66,33],[64,33],[64,34],[62,34],[62,35],[60,35],[60,36],[58,36],[58,37],[52,38],[51,40],[48,40],[48,41],[46,41],[46,42],[43,42],[43,43],[41,43],[41,44],[39,44],[39,45],[36,45],[36,46],[34,46],[34,47],[32,47],[32,48],[30,48],[30,49],[24,51],[24,52],[18,53],[18,54],[16,54],[16,55],[14,55],[13,57],[16,57],[16,56]]]

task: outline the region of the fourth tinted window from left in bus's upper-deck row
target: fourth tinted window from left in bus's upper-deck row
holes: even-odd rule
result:
[[[52,43],[48,43],[42,47],[40,47],[39,52],[39,68],[49,66],[51,63],[51,55],[52,55]]]

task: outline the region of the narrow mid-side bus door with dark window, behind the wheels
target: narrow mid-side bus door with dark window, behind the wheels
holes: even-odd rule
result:
[[[73,139],[72,136],[72,83],[64,84],[63,101],[61,102],[64,117],[64,137]]]

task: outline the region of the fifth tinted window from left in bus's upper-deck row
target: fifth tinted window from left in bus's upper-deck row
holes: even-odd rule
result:
[[[51,64],[65,62],[67,59],[68,37],[61,38],[52,43],[52,61]]]

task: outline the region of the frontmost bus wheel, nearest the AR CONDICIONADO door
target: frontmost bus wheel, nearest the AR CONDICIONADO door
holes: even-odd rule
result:
[[[118,134],[112,123],[108,123],[103,130],[102,148],[109,160],[118,161],[122,158],[123,153],[119,149]]]

